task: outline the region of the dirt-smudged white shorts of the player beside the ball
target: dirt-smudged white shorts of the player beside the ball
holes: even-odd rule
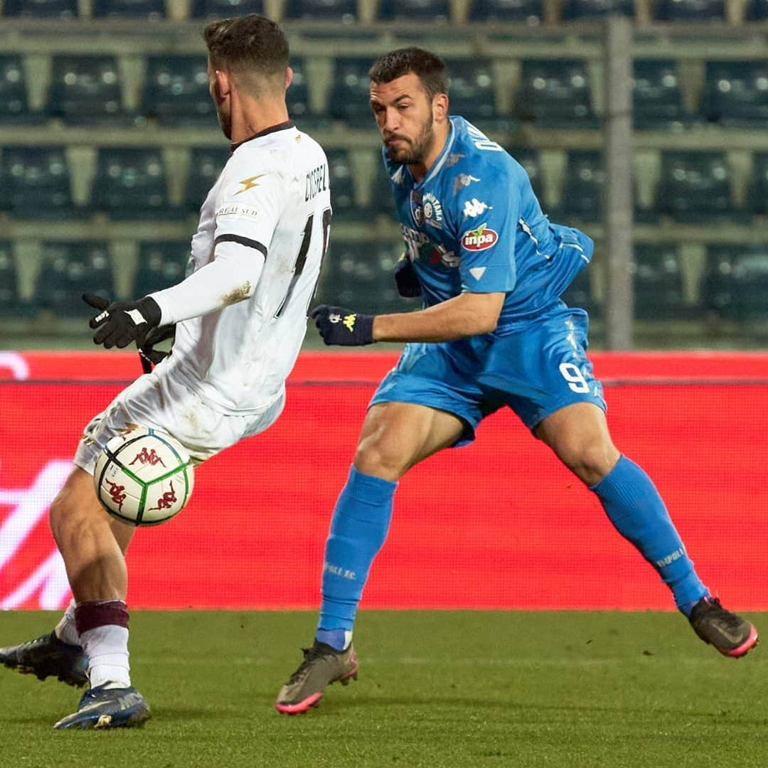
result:
[[[127,386],[83,432],[74,463],[93,475],[104,445],[128,425],[160,429],[176,438],[200,464],[243,438],[257,435],[276,422],[285,406],[285,390],[258,413],[238,414],[211,408],[199,395],[156,372]]]

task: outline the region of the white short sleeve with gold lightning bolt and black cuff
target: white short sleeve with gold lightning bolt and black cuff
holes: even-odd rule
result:
[[[214,249],[219,243],[240,243],[266,258],[288,199],[286,181],[276,171],[248,175],[240,170],[227,176],[217,200]]]

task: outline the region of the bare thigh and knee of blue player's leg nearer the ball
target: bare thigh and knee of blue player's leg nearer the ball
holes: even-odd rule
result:
[[[366,475],[394,481],[453,445],[464,430],[465,422],[453,413],[410,402],[380,402],[366,414],[354,465]]]

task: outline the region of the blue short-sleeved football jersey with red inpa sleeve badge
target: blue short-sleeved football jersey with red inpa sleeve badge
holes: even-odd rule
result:
[[[506,293],[498,328],[558,303],[593,243],[541,212],[523,167],[464,118],[418,183],[392,163],[396,216],[426,306],[459,293]]]

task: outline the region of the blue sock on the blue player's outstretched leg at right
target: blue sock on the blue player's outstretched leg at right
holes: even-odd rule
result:
[[[694,571],[694,563],[672,525],[656,486],[626,456],[590,488],[600,499],[616,530],[640,551],[670,588],[686,616],[710,594]]]

